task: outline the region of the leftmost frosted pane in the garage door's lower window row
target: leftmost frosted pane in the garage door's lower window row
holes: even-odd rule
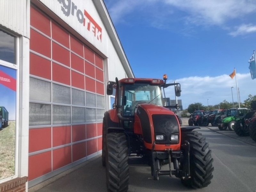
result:
[[[51,105],[29,103],[29,125],[51,124]]]

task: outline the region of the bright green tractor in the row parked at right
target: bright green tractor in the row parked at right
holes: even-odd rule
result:
[[[230,108],[228,110],[228,116],[222,119],[221,124],[219,124],[218,128],[220,130],[226,130],[227,128],[230,131],[234,131],[234,125],[236,121],[244,118],[245,114],[249,112],[247,108]]]

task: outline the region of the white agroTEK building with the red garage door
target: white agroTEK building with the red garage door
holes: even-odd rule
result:
[[[106,84],[134,75],[103,0],[2,0],[0,10],[1,140],[13,129],[0,191],[29,191],[101,154]]]

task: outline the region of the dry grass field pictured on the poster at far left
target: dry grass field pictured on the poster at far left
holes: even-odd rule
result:
[[[14,175],[15,121],[0,130],[0,180]]]

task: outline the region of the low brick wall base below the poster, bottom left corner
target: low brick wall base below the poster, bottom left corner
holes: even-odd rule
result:
[[[0,192],[26,192],[28,177],[15,178],[0,184]]]

